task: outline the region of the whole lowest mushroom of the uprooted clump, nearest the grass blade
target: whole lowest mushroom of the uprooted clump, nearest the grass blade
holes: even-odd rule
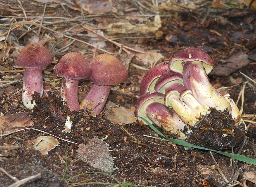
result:
[[[169,113],[164,105],[164,95],[158,92],[146,92],[137,100],[135,115],[152,121],[167,132],[177,135],[179,139],[185,140],[186,136],[182,132],[186,124],[179,118],[174,110]],[[142,119],[142,121],[146,123]]]

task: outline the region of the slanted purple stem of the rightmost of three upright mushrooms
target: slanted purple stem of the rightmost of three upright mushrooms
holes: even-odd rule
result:
[[[100,86],[93,84],[89,92],[86,94],[85,98],[80,104],[81,109],[86,109],[92,103],[90,109],[92,109],[96,115],[99,115],[104,108],[111,86]]]

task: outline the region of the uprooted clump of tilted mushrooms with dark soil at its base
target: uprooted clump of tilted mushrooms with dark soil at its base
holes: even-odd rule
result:
[[[207,74],[213,66],[213,60],[194,47],[173,54],[168,63],[160,63],[145,74],[135,114],[181,140],[197,143],[201,139],[209,147],[223,144],[217,149],[237,145],[247,128],[230,95],[222,96],[211,85]],[[209,124],[202,125],[202,121]]]

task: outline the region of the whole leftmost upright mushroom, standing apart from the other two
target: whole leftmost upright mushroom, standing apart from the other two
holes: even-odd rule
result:
[[[42,68],[52,62],[52,56],[48,50],[38,43],[26,46],[17,57],[17,65],[25,67],[22,101],[25,107],[33,109],[35,101],[32,95],[36,92],[43,95]]]

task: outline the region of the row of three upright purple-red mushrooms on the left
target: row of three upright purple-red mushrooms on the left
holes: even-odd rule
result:
[[[39,45],[26,46],[17,57],[17,65],[25,67],[22,101],[25,107],[33,109],[36,102],[33,94],[43,96],[42,68],[52,62],[48,50]],[[118,73],[117,73],[118,72]],[[128,71],[122,62],[110,55],[101,54],[89,63],[78,52],[65,54],[55,66],[55,74],[63,77],[61,97],[71,111],[85,109],[92,104],[91,110],[99,115],[109,96],[111,85],[119,84],[128,78]],[[89,78],[94,85],[83,102],[78,102],[78,83],[80,79]]]

